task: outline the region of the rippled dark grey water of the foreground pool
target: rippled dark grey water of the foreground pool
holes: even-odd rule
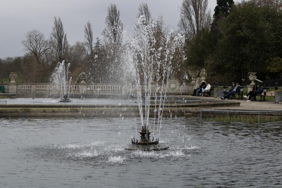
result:
[[[164,119],[170,149],[143,152],[139,118],[0,121],[0,187],[282,187],[281,122]]]

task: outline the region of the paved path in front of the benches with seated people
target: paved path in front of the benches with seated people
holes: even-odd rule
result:
[[[192,97],[192,96],[187,96],[187,97]],[[279,104],[273,103],[273,101],[251,101],[251,102],[246,102],[247,99],[232,99],[232,100],[222,100],[220,97],[214,98],[214,97],[193,97],[195,100],[205,100],[205,99],[212,99],[212,100],[218,100],[220,102],[223,101],[239,101],[241,102],[239,107],[230,107],[230,108],[239,108],[239,109],[261,109],[261,110],[282,110],[282,102]],[[219,108],[219,107],[215,107]]]

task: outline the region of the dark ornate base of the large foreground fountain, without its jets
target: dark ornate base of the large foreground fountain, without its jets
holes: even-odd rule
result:
[[[164,149],[168,149],[168,146],[164,146],[162,144],[159,144],[159,138],[154,140],[150,139],[150,134],[151,132],[149,132],[149,130],[146,128],[146,124],[144,125],[144,127],[142,126],[142,130],[141,132],[139,132],[141,134],[141,138],[138,141],[137,139],[135,140],[135,138],[131,138],[131,146],[129,146],[128,150],[143,150],[143,151],[150,151],[150,150],[164,150]]]

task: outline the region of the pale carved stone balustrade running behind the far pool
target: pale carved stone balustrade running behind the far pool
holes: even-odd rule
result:
[[[170,94],[190,94],[193,89],[193,84],[181,85],[179,82],[170,81],[168,87],[163,87],[163,93]],[[17,96],[31,97],[31,96],[60,96],[58,86],[50,83],[9,83],[2,84],[5,86],[5,93],[15,93]],[[171,86],[170,86],[171,85]],[[13,92],[10,88],[13,87]],[[107,84],[107,83],[78,83],[69,86],[70,92],[75,96],[95,96],[99,94],[136,94],[137,91],[129,85],[121,84]],[[152,92],[155,91],[156,85],[151,86]],[[144,87],[141,86],[141,92],[144,93]],[[160,91],[159,91],[160,92]],[[158,93],[159,94],[159,93]]]

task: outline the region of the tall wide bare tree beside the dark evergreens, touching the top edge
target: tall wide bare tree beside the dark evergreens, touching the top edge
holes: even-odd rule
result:
[[[183,0],[178,26],[187,39],[199,35],[202,29],[208,29],[205,27],[211,24],[211,14],[207,8],[208,0]]]

